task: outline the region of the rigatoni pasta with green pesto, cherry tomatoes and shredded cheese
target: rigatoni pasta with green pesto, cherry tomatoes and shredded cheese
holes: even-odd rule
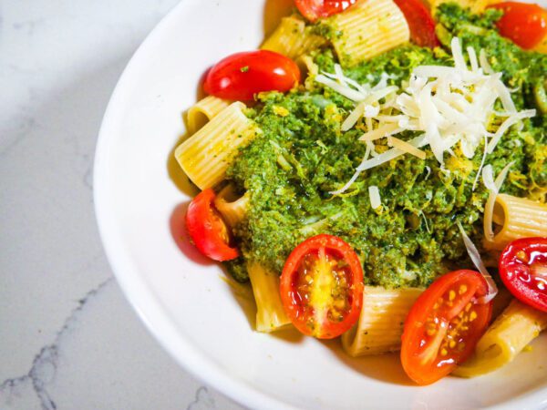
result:
[[[186,228],[256,331],[489,373],[547,326],[547,11],[295,0],[223,58],[175,150]]]

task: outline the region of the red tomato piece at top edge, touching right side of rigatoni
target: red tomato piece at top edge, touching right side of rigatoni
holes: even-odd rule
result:
[[[407,19],[410,28],[410,38],[421,47],[440,46],[435,34],[435,20],[428,8],[420,0],[395,0]]]

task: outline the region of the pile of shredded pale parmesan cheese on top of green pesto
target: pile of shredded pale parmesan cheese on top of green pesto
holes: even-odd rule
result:
[[[473,182],[475,190],[487,156],[503,135],[511,126],[520,125],[522,119],[535,116],[533,109],[517,111],[511,89],[501,81],[501,73],[492,70],[484,50],[480,50],[477,57],[475,49],[466,48],[468,67],[458,37],[452,38],[451,49],[454,67],[416,67],[408,81],[403,81],[402,88],[388,86],[387,80],[391,77],[385,73],[375,86],[358,84],[346,77],[339,65],[335,65],[334,73],[324,72],[315,77],[316,82],[356,104],[341,129],[346,132],[357,123],[365,128],[359,140],[366,142],[369,155],[373,157],[363,159],[357,172],[404,154],[425,159],[426,153],[419,149],[425,146],[431,149],[443,169],[445,154],[453,156],[455,147],[459,146],[463,155],[471,159],[482,144],[484,152]],[[501,110],[494,109],[497,101],[501,102]],[[501,125],[490,132],[492,123]],[[421,133],[419,147],[416,138],[406,141],[393,137],[405,131]],[[377,154],[372,141],[380,138],[387,138],[387,144],[393,149]],[[350,185],[346,184],[346,189]]]

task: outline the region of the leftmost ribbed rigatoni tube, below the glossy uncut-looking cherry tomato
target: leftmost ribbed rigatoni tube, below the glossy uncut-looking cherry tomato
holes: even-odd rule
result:
[[[182,170],[201,190],[224,179],[238,149],[259,131],[243,108],[241,102],[232,103],[175,149]]]

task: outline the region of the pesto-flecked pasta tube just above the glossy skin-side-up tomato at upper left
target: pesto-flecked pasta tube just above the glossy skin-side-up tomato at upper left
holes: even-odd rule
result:
[[[306,29],[303,20],[295,17],[284,17],[272,36],[264,41],[261,48],[271,50],[295,59],[306,52],[325,44],[322,36],[316,36]]]

